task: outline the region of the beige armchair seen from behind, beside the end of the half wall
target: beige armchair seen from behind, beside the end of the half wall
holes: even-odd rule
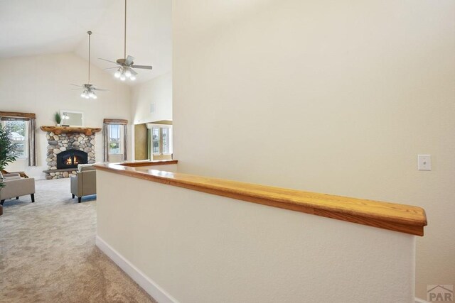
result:
[[[71,194],[80,203],[83,196],[97,193],[97,171],[92,165],[80,165],[75,176],[71,176]]]

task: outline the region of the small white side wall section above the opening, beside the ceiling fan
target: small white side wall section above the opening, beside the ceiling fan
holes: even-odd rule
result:
[[[132,87],[132,116],[134,124],[172,120],[171,72]]]

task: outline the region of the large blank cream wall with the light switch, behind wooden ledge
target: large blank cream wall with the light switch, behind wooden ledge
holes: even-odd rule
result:
[[[417,294],[455,284],[454,17],[451,0],[174,0],[179,170],[422,206]]]

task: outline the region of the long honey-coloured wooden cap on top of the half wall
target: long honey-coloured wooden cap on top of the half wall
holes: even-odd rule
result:
[[[145,163],[148,164],[145,165]],[[176,164],[176,160],[141,162],[141,165],[132,165],[132,163],[98,164],[95,167],[98,170],[193,189],[198,192],[207,192],[416,236],[423,236],[424,226],[427,226],[425,211],[417,206],[269,187],[179,172],[152,170],[145,167],[166,164]]]

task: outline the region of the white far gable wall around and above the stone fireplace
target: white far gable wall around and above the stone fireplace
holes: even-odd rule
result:
[[[28,167],[33,177],[43,177],[47,170],[45,132],[40,126],[53,126],[53,114],[60,109],[83,111],[85,126],[102,127],[104,118],[131,120],[129,87],[107,72],[93,67],[91,82],[109,89],[98,99],[82,99],[70,83],[87,82],[87,61],[73,53],[12,57],[0,60],[0,110],[36,114],[38,167]],[[131,148],[129,148],[131,150]],[[102,161],[102,134],[96,135],[96,160]],[[131,155],[131,152],[129,152]]]

